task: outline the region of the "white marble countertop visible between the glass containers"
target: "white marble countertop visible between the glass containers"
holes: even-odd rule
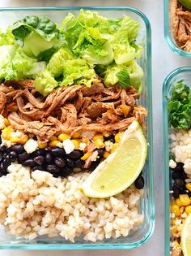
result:
[[[163,256],[163,156],[162,156],[162,85],[164,78],[176,67],[189,66],[184,59],[168,48],[163,37],[162,0],[1,0],[0,7],[51,7],[51,6],[130,6],[144,12],[152,28],[152,76],[153,76],[153,117],[154,117],[154,167],[155,167],[155,232],[145,245],[132,250],[78,250],[78,251],[0,251],[0,256]]]

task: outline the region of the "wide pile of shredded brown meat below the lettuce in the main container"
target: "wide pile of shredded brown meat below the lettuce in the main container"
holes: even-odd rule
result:
[[[9,119],[11,127],[45,142],[62,132],[124,130],[134,119],[142,124],[147,113],[142,106],[136,106],[138,98],[133,87],[104,88],[101,81],[91,88],[63,86],[43,98],[33,87],[33,80],[10,80],[0,85],[0,113]],[[130,106],[127,116],[123,105]]]

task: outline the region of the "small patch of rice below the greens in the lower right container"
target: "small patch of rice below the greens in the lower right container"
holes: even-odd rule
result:
[[[170,149],[175,156],[176,163],[184,163],[185,173],[191,178],[191,129],[175,130],[170,139]]]

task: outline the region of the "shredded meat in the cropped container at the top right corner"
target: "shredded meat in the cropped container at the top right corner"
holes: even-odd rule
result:
[[[172,0],[170,17],[177,45],[185,51],[191,51],[191,11],[182,7],[178,0]]]

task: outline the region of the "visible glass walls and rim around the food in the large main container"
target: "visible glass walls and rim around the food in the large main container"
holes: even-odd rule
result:
[[[144,195],[140,202],[140,212],[144,216],[142,225],[138,230],[130,232],[127,237],[87,242],[79,236],[75,243],[60,237],[38,236],[35,240],[28,241],[24,237],[11,236],[0,228],[0,249],[132,249],[142,245],[151,236],[155,223],[154,186],[153,186],[153,142],[152,142],[152,98],[151,98],[151,26],[149,20],[142,12],[130,7],[40,7],[40,8],[1,8],[0,24],[6,28],[15,20],[26,15],[46,15],[49,19],[61,24],[68,12],[78,14],[79,10],[99,11],[100,15],[112,19],[129,15],[142,25],[138,41],[142,41],[143,53],[138,63],[142,66],[144,76],[142,80],[142,97],[140,103],[148,110],[145,119],[145,135],[148,143],[148,154],[143,170],[145,180]]]

